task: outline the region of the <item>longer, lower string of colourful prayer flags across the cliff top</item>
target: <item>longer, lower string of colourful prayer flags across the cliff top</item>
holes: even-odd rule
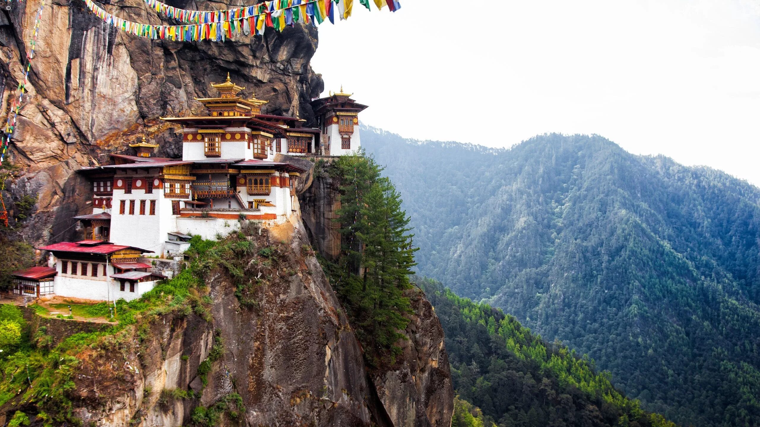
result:
[[[272,0],[271,2],[226,11],[186,11],[173,8],[157,0],[144,1],[151,8],[166,14],[166,16],[170,15],[169,17],[179,21],[195,22],[196,24],[141,24],[109,14],[96,5],[93,0],[84,0],[93,14],[100,17],[106,24],[119,30],[152,40],[168,39],[182,42],[198,40],[223,42],[232,38],[233,34],[242,32],[246,36],[261,35],[264,34],[267,27],[274,27],[275,30],[282,31],[285,27],[297,23],[312,24],[316,27],[317,24],[324,22],[325,18],[329,18],[330,22],[334,23],[336,9],[340,19],[349,17],[353,6],[353,0]],[[373,1],[379,7],[384,0]],[[359,2],[369,8],[369,0],[359,0]],[[391,11],[401,8],[396,0],[385,0],[385,2]],[[390,5],[393,7],[391,8]]]

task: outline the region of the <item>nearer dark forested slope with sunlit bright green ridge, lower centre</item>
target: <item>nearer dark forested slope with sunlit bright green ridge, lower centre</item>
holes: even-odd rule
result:
[[[560,343],[544,342],[514,317],[460,298],[435,280],[416,281],[445,332],[451,376],[461,397],[454,427],[477,421],[483,427],[675,427],[616,391],[609,375],[596,372],[587,359]]]

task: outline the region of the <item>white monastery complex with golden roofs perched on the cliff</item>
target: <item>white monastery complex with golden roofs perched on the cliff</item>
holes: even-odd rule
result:
[[[262,114],[268,101],[240,96],[245,88],[230,74],[211,87],[218,97],[196,98],[203,115],[162,118],[182,128],[181,159],[152,157],[158,145],[142,138],[130,144],[135,155],[111,154],[112,164],[79,171],[90,182],[93,211],[74,218],[90,229],[89,239],[40,247],[49,266],[14,272],[14,293],[136,299],[165,278],[141,256],[182,255],[192,236],[216,239],[239,220],[272,225],[296,213],[295,181],[306,171],[287,156],[359,150],[358,114],[367,107],[342,87],[312,101],[311,128],[297,117]]]

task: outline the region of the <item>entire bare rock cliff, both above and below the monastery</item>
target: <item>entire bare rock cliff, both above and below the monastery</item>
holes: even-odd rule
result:
[[[242,5],[230,2],[226,5]],[[0,14],[2,112],[23,81],[25,49],[40,0],[12,3]],[[121,17],[158,24],[141,0],[116,0]],[[172,5],[191,7],[185,2]],[[223,8],[216,2],[213,8]],[[108,153],[129,153],[142,134],[161,144],[158,155],[178,157],[176,129],[161,116],[198,112],[194,97],[209,84],[233,80],[269,100],[264,112],[312,119],[309,100],[321,77],[309,66],[317,46],[309,27],[267,31],[264,37],[227,43],[150,41],[113,30],[81,2],[55,0],[43,11],[29,91],[17,119],[6,180],[6,201],[37,197],[19,232],[28,242],[74,238],[71,217],[88,213],[90,191],[76,170],[105,163]],[[192,7],[211,9],[206,2]],[[307,168],[308,169],[308,168]],[[313,189],[312,185],[315,185]],[[190,425],[195,408],[228,406],[214,425],[448,426],[453,391],[438,318],[416,296],[416,314],[397,365],[369,370],[362,349],[309,249],[337,256],[340,236],[331,223],[334,185],[306,174],[306,223],[299,218],[253,239],[277,248],[279,264],[254,274],[255,302],[242,305],[239,283],[223,267],[205,277],[210,315],[155,314],[141,328],[78,354],[70,391],[84,425]],[[315,213],[324,212],[315,220]],[[11,221],[12,223],[12,221]],[[255,264],[251,264],[249,267]],[[251,267],[253,268],[253,267]],[[204,384],[198,367],[223,343]],[[194,391],[187,393],[176,391]],[[239,396],[242,412],[234,416]],[[4,408],[8,409],[8,408]],[[13,409],[15,410],[15,408]],[[12,413],[12,411],[11,411]],[[94,424],[93,424],[94,423]],[[195,422],[195,425],[203,425]]]

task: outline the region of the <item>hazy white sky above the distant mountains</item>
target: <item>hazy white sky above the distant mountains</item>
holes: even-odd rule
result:
[[[312,65],[368,125],[491,147],[600,134],[760,185],[760,0],[355,3]]]

